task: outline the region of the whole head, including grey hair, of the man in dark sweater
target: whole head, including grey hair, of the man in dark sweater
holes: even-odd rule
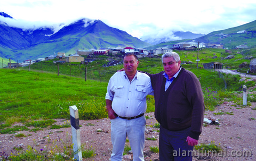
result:
[[[175,52],[167,52],[162,55],[164,71],[169,79],[173,77],[180,69],[180,56]]]

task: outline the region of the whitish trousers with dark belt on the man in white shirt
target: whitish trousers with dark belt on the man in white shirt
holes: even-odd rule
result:
[[[111,161],[122,161],[126,137],[133,154],[133,161],[144,160],[146,118],[141,116],[132,120],[116,117],[111,120],[111,141],[113,151]]]

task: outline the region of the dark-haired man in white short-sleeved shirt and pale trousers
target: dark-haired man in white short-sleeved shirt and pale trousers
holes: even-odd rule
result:
[[[111,120],[111,161],[122,161],[126,137],[133,153],[133,160],[144,160],[147,109],[146,96],[153,95],[150,78],[137,71],[137,55],[125,54],[124,71],[116,72],[109,80],[106,105]]]

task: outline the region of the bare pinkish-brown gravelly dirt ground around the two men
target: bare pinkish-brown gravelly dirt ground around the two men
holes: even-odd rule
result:
[[[205,111],[205,118],[216,117],[219,125],[205,125],[199,137],[199,143],[209,144],[214,142],[223,150],[222,154],[207,154],[207,152],[196,156],[193,160],[256,160],[256,110],[253,110],[256,103],[251,106],[236,107],[233,102],[224,102],[215,111]],[[214,113],[223,112],[222,115]],[[227,114],[229,113],[229,114]],[[233,114],[233,115],[230,115]],[[158,147],[159,133],[154,128],[156,120],[154,113],[147,113],[146,138],[156,138],[156,140],[146,140],[144,155],[145,160],[158,160],[158,153],[150,151],[150,147]],[[149,117],[149,118],[148,118]],[[66,120],[57,119],[55,124],[64,124]],[[69,120],[68,120],[69,122]],[[14,125],[22,125],[16,123]],[[81,125],[81,142],[86,143],[88,148],[95,149],[95,156],[83,160],[109,160],[111,155],[110,120],[103,118],[100,120],[79,120]],[[33,127],[30,127],[33,129]],[[37,150],[41,148],[49,150],[57,144],[59,147],[63,142],[71,143],[71,128],[51,130],[45,128],[42,131],[30,132],[20,131],[26,137],[16,138],[15,134],[0,134],[0,151],[6,154],[11,153],[14,147],[26,149],[31,146]],[[53,142],[54,141],[54,142]],[[50,142],[50,143],[47,143]],[[127,142],[129,145],[129,142]],[[251,154],[251,155],[250,155]],[[202,156],[203,155],[203,156]],[[123,160],[132,159],[132,154],[124,156]]]

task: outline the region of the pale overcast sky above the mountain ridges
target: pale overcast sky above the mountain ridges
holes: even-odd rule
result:
[[[7,0],[0,1],[0,12],[15,19],[9,25],[21,28],[87,18],[143,40],[172,37],[173,31],[207,34],[252,22],[256,20],[256,1]]]

